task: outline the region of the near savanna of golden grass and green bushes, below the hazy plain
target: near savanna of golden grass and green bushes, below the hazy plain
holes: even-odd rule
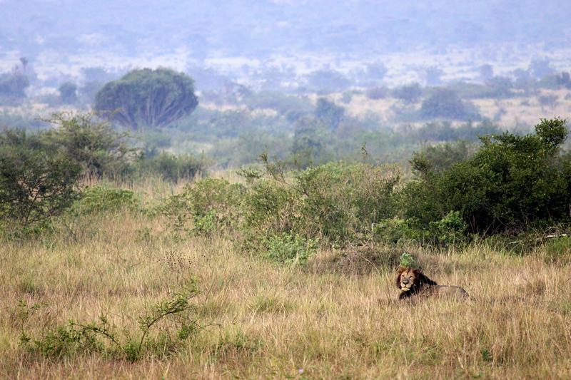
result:
[[[567,122],[210,173],[91,114],[0,133],[0,376],[568,378]],[[470,127],[471,128],[471,127]],[[469,299],[398,301],[399,265]]]

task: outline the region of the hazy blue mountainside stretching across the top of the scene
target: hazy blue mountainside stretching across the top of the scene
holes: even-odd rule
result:
[[[1,51],[34,57],[186,48],[193,58],[438,51],[571,38],[571,1],[0,0]]]

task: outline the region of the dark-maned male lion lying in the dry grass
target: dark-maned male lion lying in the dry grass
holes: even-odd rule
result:
[[[395,283],[400,289],[398,299],[407,299],[412,296],[439,296],[457,299],[468,297],[468,292],[463,288],[439,285],[429,279],[420,269],[399,267],[396,272]]]

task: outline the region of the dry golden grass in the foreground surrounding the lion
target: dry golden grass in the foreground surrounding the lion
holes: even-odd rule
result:
[[[355,260],[327,251],[308,267],[279,267],[244,255],[229,238],[165,239],[162,226],[125,213],[94,219],[79,242],[64,235],[0,242],[0,377],[571,376],[570,267],[547,263],[541,250],[526,257],[482,245],[417,250],[430,277],[464,287],[471,300],[410,304],[395,302],[393,267],[375,260],[370,270],[352,271]],[[141,237],[144,228],[150,239]],[[101,312],[134,331],[133,317],[193,275],[201,287],[198,318],[216,325],[171,356],[135,363],[98,354],[46,359],[19,346],[19,299],[47,304],[26,323],[35,337]]]

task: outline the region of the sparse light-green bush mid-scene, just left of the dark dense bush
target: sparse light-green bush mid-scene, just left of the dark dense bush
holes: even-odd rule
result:
[[[258,234],[297,233],[331,243],[365,237],[395,212],[395,170],[369,164],[330,163],[285,178],[254,183],[246,197],[246,227]]]

